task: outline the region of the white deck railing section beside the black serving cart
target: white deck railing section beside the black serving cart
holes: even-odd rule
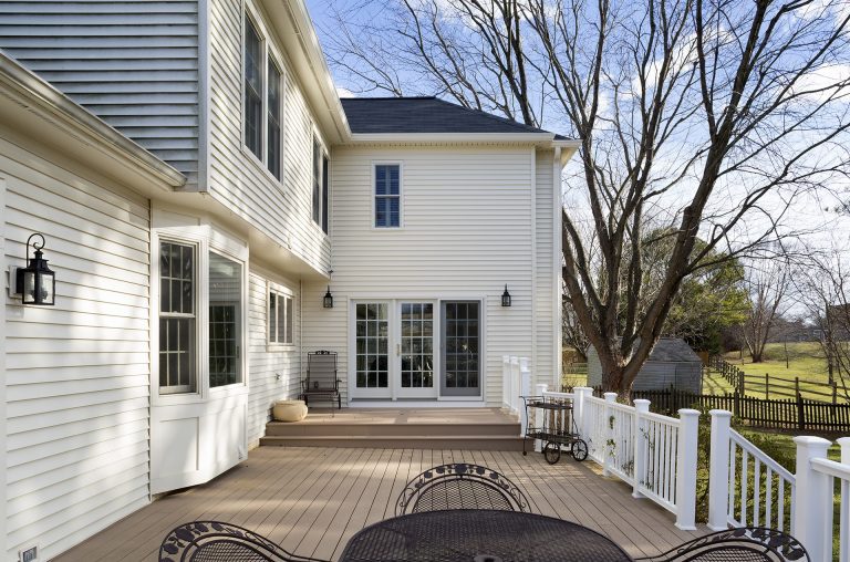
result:
[[[573,399],[579,434],[604,475],[630,483],[635,498],[649,498],[675,513],[676,527],[696,528],[698,412],[682,409],[676,419],[651,414],[649,400],[628,406],[615,402],[615,393],[602,399],[591,388],[578,387],[570,395],[539,386],[543,396]]]

